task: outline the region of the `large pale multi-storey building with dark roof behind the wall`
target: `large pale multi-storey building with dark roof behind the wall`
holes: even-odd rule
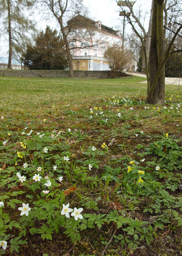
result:
[[[121,31],[82,15],[70,19],[65,28],[72,48],[74,70],[110,70],[104,53],[113,44],[122,45]]]

